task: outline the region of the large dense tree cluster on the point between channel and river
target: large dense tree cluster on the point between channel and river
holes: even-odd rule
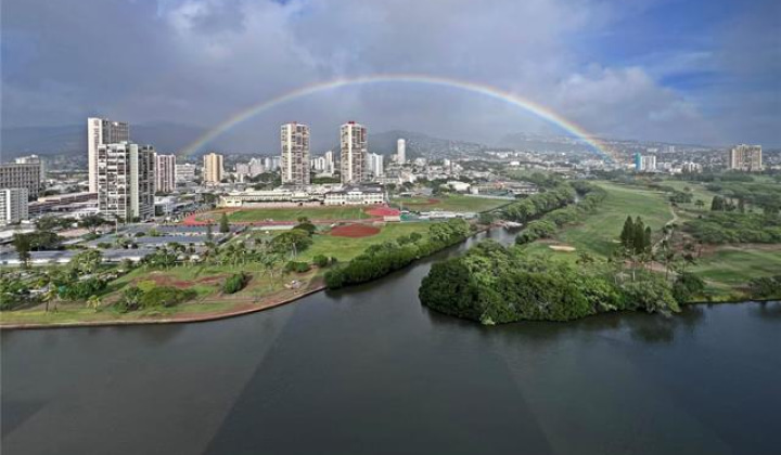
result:
[[[434,264],[419,295],[434,310],[484,324],[569,321],[615,310],[679,310],[669,284],[656,274],[628,281],[604,263],[579,268],[490,240]]]

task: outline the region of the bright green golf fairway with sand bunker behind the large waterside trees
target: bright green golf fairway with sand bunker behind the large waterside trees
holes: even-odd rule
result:
[[[664,194],[604,182],[599,185],[607,191],[607,197],[598,211],[586,217],[582,223],[560,232],[555,240],[579,251],[606,257],[615,248],[627,216],[640,216],[656,235],[662,226],[673,219]],[[550,249],[547,245],[536,244],[534,251],[541,251],[543,248]],[[556,256],[574,257],[576,253],[556,252]]]

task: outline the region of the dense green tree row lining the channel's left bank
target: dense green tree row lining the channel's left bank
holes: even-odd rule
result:
[[[329,288],[366,283],[402,269],[417,259],[439,251],[450,245],[462,242],[471,233],[468,222],[454,219],[444,223],[432,224],[428,237],[398,243],[386,242],[372,245],[367,250],[343,266],[334,268],[325,273]]]

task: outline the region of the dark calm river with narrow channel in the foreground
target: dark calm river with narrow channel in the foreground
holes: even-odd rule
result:
[[[225,321],[3,332],[2,453],[781,447],[781,303],[482,327],[421,307],[432,260]]]

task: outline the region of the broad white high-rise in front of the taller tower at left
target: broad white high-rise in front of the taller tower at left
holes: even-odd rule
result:
[[[154,214],[155,152],[131,142],[98,147],[98,208],[106,219]]]

